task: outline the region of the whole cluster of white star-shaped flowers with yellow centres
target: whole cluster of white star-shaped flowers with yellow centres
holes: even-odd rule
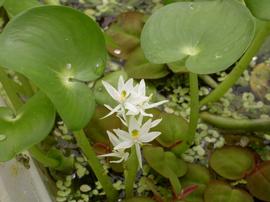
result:
[[[140,167],[142,167],[141,145],[153,141],[161,134],[158,131],[150,131],[151,128],[160,123],[161,119],[152,120],[153,115],[147,113],[146,110],[162,105],[167,102],[167,100],[151,103],[150,99],[152,95],[146,95],[144,80],[134,85],[133,79],[129,79],[125,82],[123,77],[120,76],[117,89],[106,81],[102,81],[102,83],[106,91],[118,103],[114,108],[105,105],[105,107],[110,110],[110,113],[103,118],[116,114],[127,127],[127,131],[119,128],[114,129],[114,133],[107,131],[114,148],[112,153],[100,156],[119,158],[119,160],[111,162],[120,163],[126,161],[129,157],[129,153],[126,152],[126,149],[135,146],[138,162]]]

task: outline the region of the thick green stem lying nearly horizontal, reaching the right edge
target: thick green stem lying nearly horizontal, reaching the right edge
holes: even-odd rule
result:
[[[242,131],[261,131],[270,132],[270,119],[233,119],[202,112],[200,118],[215,127],[242,130]]]

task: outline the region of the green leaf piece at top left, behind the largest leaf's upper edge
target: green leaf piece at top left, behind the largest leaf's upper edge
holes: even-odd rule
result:
[[[38,0],[5,0],[4,3],[4,8],[10,18],[13,18],[15,15],[36,6],[41,6]]]

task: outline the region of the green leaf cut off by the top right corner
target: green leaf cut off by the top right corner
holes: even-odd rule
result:
[[[245,3],[255,17],[262,20],[270,20],[269,0],[245,0]]]

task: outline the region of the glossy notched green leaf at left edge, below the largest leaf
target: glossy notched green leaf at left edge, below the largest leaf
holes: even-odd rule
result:
[[[51,131],[54,119],[55,109],[41,92],[30,98],[16,115],[1,107],[0,161],[8,161],[42,141]]]

